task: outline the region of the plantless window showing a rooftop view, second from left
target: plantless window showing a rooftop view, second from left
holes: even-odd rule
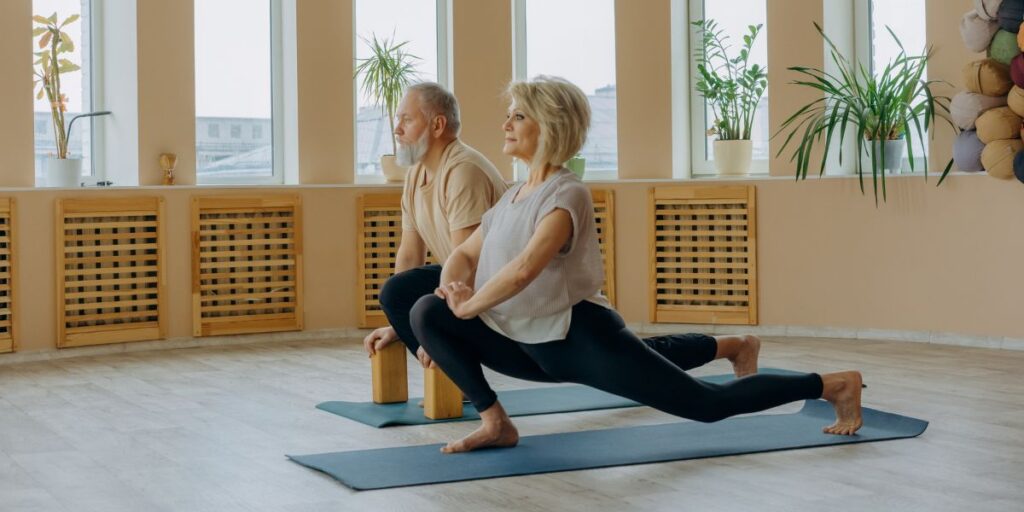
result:
[[[280,123],[281,0],[196,1],[197,182],[282,183],[278,137],[246,137]],[[228,140],[218,123],[229,123]]]

